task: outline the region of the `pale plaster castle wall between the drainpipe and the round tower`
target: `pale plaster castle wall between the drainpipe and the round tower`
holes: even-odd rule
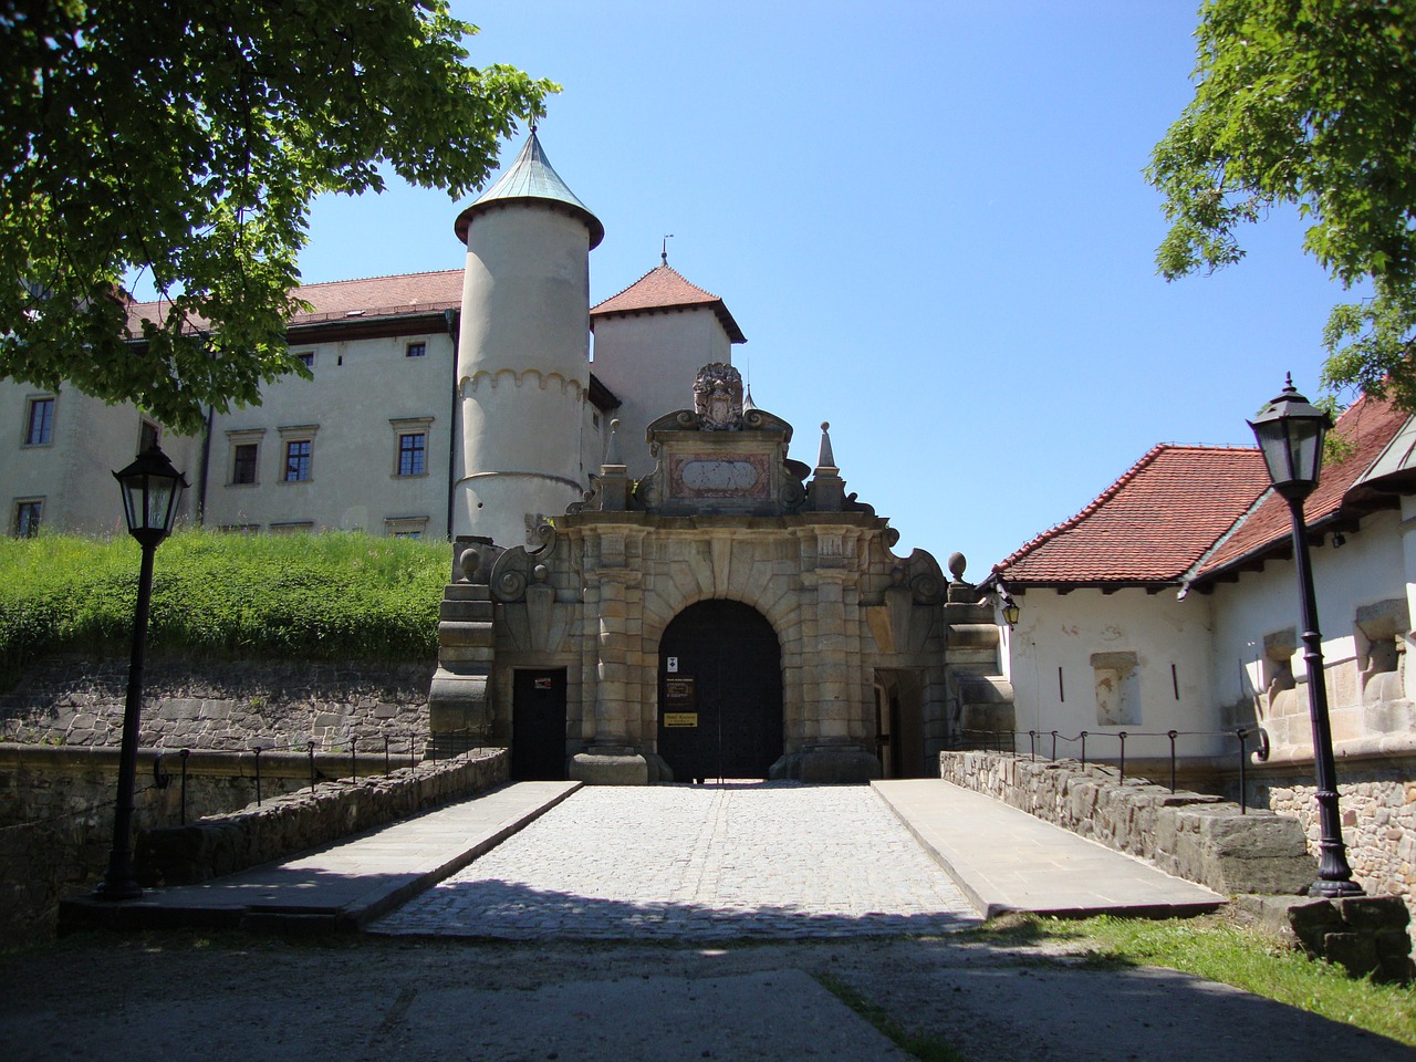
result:
[[[409,343],[426,354],[406,357]],[[453,343],[446,331],[292,346],[314,353],[314,378],[268,385],[262,404],[218,415],[212,425],[207,525],[309,521],[316,530],[388,532],[391,518],[423,518],[426,537],[447,534]],[[391,419],[429,419],[426,473],[398,476]],[[312,477],[285,483],[282,426],[317,425]],[[253,486],[232,484],[231,432],[262,430]],[[418,430],[405,428],[405,430]],[[238,442],[249,442],[249,436]]]

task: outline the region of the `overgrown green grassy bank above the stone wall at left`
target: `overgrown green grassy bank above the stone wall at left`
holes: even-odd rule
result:
[[[0,683],[48,653],[127,653],[130,538],[0,539]],[[445,542],[183,531],[157,549],[149,647],[290,660],[432,658]]]

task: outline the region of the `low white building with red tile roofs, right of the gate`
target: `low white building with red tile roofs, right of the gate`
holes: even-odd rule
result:
[[[1416,892],[1416,422],[1359,399],[1306,503],[1332,745],[1352,869]],[[994,569],[1021,750],[1164,763],[1313,821],[1313,736],[1287,504],[1255,449],[1157,446],[1092,504]],[[966,724],[967,726],[967,724]],[[1262,732],[1260,732],[1262,731]]]

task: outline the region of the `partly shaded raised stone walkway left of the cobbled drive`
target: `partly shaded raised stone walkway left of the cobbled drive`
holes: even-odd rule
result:
[[[149,889],[118,903],[69,901],[61,927],[357,929],[457,872],[579,787],[517,782],[201,885]]]

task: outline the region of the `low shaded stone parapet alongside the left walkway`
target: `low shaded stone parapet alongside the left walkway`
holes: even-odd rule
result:
[[[188,885],[384,826],[507,780],[506,749],[474,749],[391,775],[341,779],[137,837],[143,885]]]

